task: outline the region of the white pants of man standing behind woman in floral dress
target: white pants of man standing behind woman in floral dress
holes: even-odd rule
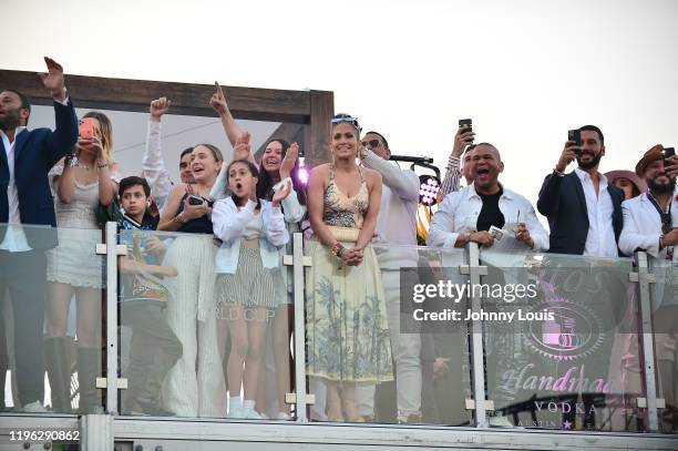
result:
[[[407,419],[409,414],[421,414],[421,336],[419,334],[400,334],[400,270],[382,269],[383,290],[387,299],[391,353],[396,360],[398,379],[398,417]],[[404,273],[415,284],[417,274]],[[362,416],[374,414],[374,383],[358,383],[356,387],[356,407]]]

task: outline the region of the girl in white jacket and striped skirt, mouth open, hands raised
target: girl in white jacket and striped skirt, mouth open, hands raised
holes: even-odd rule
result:
[[[279,267],[278,247],[289,240],[280,202],[291,187],[285,184],[270,202],[263,201],[257,198],[259,174],[253,163],[237,160],[226,174],[233,195],[214,204],[212,221],[215,236],[223,242],[215,264],[216,294],[232,339],[228,414],[259,419],[254,407],[264,370],[266,326],[277,307],[274,269]]]

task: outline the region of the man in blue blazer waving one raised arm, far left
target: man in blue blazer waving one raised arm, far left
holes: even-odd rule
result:
[[[42,84],[54,99],[56,127],[29,131],[28,99],[0,92],[0,307],[9,290],[13,307],[19,400],[24,411],[44,411],[42,327],[44,252],[56,246],[54,201],[48,172],[78,141],[78,119],[66,95],[63,68],[45,57]],[[2,311],[4,309],[2,308]],[[4,318],[0,341],[4,341]],[[4,379],[4,373],[1,375]]]

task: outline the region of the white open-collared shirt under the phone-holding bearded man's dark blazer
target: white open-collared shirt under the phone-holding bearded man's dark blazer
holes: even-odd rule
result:
[[[607,177],[600,174],[598,194],[586,171],[576,167],[575,173],[582,181],[586,212],[588,213],[588,233],[584,245],[584,255],[596,257],[617,257],[617,243],[613,227],[614,206],[607,192]]]

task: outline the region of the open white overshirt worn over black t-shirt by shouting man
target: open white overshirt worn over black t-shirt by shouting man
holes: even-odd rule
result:
[[[454,247],[460,234],[475,232],[477,216],[483,208],[483,201],[470,185],[445,196],[440,209],[433,215],[429,238],[430,246]],[[525,223],[534,242],[534,250],[548,249],[548,233],[534,213],[534,207],[525,197],[503,188],[499,208],[506,223]]]

